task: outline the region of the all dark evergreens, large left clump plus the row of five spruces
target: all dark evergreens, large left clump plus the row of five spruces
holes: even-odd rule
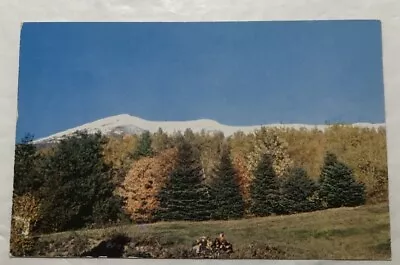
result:
[[[125,218],[123,198],[116,193],[114,171],[104,163],[105,137],[78,132],[46,154],[27,137],[16,146],[14,196],[33,194],[40,203],[41,232],[104,225]],[[158,194],[155,220],[241,218],[288,214],[322,208],[355,206],[365,202],[364,186],[349,167],[327,154],[319,182],[295,168],[278,178],[271,157],[263,155],[253,174],[251,200],[246,207],[228,145],[222,145],[213,181],[206,184],[199,152],[186,136],[178,135],[177,166]],[[140,137],[134,159],[152,156],[148,133]]]

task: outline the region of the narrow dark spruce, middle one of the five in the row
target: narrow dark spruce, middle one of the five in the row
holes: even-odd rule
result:
[[[250,211],[256,216],[267,216],[282,211],[279,181],[272,166],[272,159],[268,154],[261,156],[254,171],[250,196]]]

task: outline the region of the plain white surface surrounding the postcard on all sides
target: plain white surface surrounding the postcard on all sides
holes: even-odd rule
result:
[[[392,262],[400,264],[399,0],[0,0],[0,264],[388,264],[345,261],[10,259],[18,56],[28,21],[247,21],[379,19],[383,27]],[[295,40],[294,40],[295,41]],[[397,92],[397,93],[396,93]],[[397,114],[397,115],[396,115]],[[399,118],[396,118],[399,116]],[[397,137],[396,137],[397,136]]]

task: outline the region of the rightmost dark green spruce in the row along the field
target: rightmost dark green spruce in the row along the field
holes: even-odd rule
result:
[[[351,168],[327,154],[321,172],[320,197],[327,208],[358,206],[365,203],[365,187],[355,180]]]

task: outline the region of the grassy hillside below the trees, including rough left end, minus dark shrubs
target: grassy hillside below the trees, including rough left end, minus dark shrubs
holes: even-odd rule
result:
[[[173,254],[168,257],[179,258],[195,239],[215,237],[224,231],[234,246],[232,258],[389,260],[388,210],[384,203],[232,221],[125,225],[42,235],[38,245],[47,256],[79,255],[79,251],[123,232],[133,238],[136,248],[151,252],[151,247],[157,245],[163,249],[158,254],[150,253],[154,257],[165,257],[160,253],[170,252]],[[124,255],[129,252],[135,253],[128,246]]]

